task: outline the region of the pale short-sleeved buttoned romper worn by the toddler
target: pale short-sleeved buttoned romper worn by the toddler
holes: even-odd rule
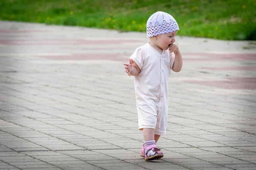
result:
[[[163,50],[160,54],[149,42],[130,57],[140,68],[134,77],[139,129],[153,128],[155,134],[166,134],[168,114],[168,78],[175,54]]]

